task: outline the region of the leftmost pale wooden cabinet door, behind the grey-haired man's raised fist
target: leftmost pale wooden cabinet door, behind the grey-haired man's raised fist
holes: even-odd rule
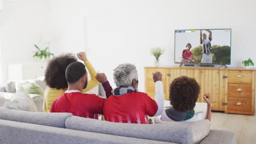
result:
[[[152,98],[155,98],[155,82],[152,73],[159,71],[162,74],[162,85],[164,87],[164,96],[166,99],[166,69],[165,68],[145,68],[145,92]]]

